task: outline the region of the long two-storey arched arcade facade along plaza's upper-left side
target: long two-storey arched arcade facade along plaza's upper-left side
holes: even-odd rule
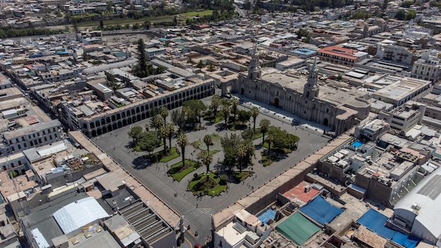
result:
[[[184,101],[209,97],[214,94],[215,88],[214,80],[198,82],[128,106],[79,118],[78,124],[85,135],[95,137],[149,118],[151,117],[151,111],[159,109],[161,106],[166,106],[167,109],[175,109],[182,106]]]

